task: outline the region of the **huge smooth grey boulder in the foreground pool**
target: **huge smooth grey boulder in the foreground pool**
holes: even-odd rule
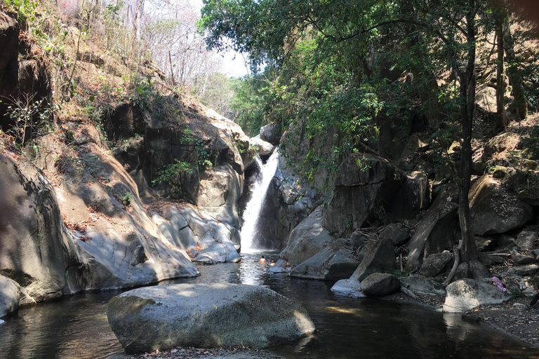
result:
[[[260,286],[177,284],[112,298],[110,327],[127,353],[176,346],[265,348],[314,331],[300,304]]]

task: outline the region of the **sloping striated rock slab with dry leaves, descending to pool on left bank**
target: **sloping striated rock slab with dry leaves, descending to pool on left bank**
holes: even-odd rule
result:
[[[62,158],[79,156],[88,167],[61,173],[69,185],[55,187],[64,222],[71,227],[69,234],[82,259],[81,268],[69,274],[78,278],[76,290],[197,276],[187,253],[168,241],[149,217],[137,185],[119,161],[94,143],[79,148]],[[130,198],[128,204],[122,198]]]

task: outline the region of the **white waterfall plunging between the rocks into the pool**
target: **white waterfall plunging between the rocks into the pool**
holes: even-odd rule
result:
[[[261,170],[255,179],[251,200],[247,203],[242,217],[244,224],[241,227],[241,252],[245,253],[256,251],[255,245],[258,238],[256,224],[260,217],[260,210],[262,210],[267,189],[270,187],[279,165],[278,148],[274,149],[272,156],[268,158],[265,165],[262,165],[260,157],[257,157],[256,161]]]

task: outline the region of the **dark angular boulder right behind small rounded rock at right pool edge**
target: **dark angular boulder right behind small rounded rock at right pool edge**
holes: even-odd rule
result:
[[[358,282],[372,273],[391,271],[396,267],[394,246],[389,238],[367,243],[359,252],[359,257],[362,257],[361,263],[350,277]]]

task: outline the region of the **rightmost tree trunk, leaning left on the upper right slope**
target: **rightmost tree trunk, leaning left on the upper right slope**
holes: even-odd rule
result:
[[[526,97],[524,97],[524,86],[522,85],[522,77],[519,74],[519,62],[517,56],[514,55],[514,45],[511,36],[509,19],[507,16],[503,20],[503,43],[505,53],[507,54],[507,75],[511,81],[512,93],[514,98],[514,107],[517,110],[517,119],[524,120],[528,116],[528,105]]]

